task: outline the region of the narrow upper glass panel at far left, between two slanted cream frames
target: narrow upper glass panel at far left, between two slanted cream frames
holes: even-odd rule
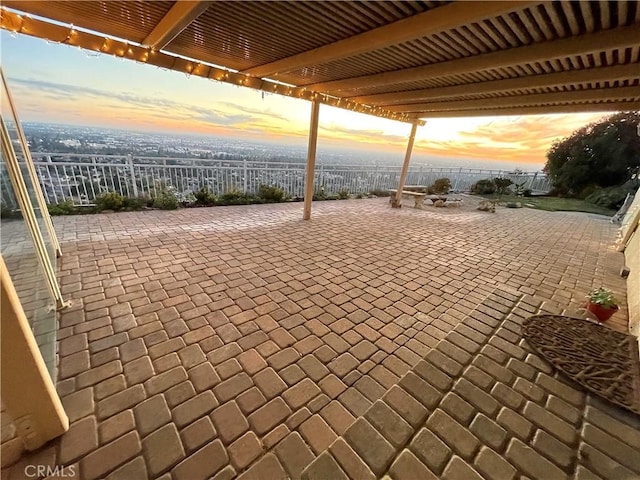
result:
[[[49,229],[47,228],[46,220],[44,219],[43,213],[40,210],[40,204],[38,203],[38,194],[36,192],[35,182],[39,180],[34,179],[31,176],[31,171],[26,163],[26,154],[22,146],[22,142],[20,141],[20,134],[18,129],[16,128],[16,122],[18,121],[14,116],[13,112],[9,106],[9,98],[7,97],[7,92],[2,89],[2,118],[5,121],[5,126],[7,127],[7,131],[9,132],[9,137],[11,138],[11,144],[13,145],[13,150],[16,153],[16,157],[18,158],[18,164],[20,165],[20,171],[22,172],[22,177],[24,179],[24,183],[27,186],[27,192],[29,194],[29,200],[31,200],[31,205],[33,206],[33,210],[36,214],[36,218],[38,220],[38,226],[40,227],[40,232],[42,233],[42,238],[44,238],[45,246],[47,247],[47,255],[49,256],[49,261],[52,265],[56,265],[56,247],[51,239],[51,235]]]

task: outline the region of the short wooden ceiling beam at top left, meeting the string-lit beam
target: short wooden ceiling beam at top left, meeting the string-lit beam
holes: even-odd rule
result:
[[[162,50],[180,35],[196,18],[202,15],[212,1],[178,0],[142,41],[142,45]]]

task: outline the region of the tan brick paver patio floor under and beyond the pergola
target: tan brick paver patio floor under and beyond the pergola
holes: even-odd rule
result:
[[[472,204],[56,218],[71,428],[3,478],[637,478],[638,418],[519,330],[594,286],[624,298],[616,228]]]

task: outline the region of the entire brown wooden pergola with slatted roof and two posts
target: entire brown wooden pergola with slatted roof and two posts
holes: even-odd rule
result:
[[[640,108],[636,1],[19,1],[2,28],[412,124]]]

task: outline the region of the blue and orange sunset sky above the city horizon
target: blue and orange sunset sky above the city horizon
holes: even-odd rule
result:
[[[2,67],[23,122],[304,143],[310,103],[25,35],[0,34]],[[607,114],[433,119],[415,154],[541,168],[551,143]],[[320,145],[404,155],[411,126],[322,105]]]

